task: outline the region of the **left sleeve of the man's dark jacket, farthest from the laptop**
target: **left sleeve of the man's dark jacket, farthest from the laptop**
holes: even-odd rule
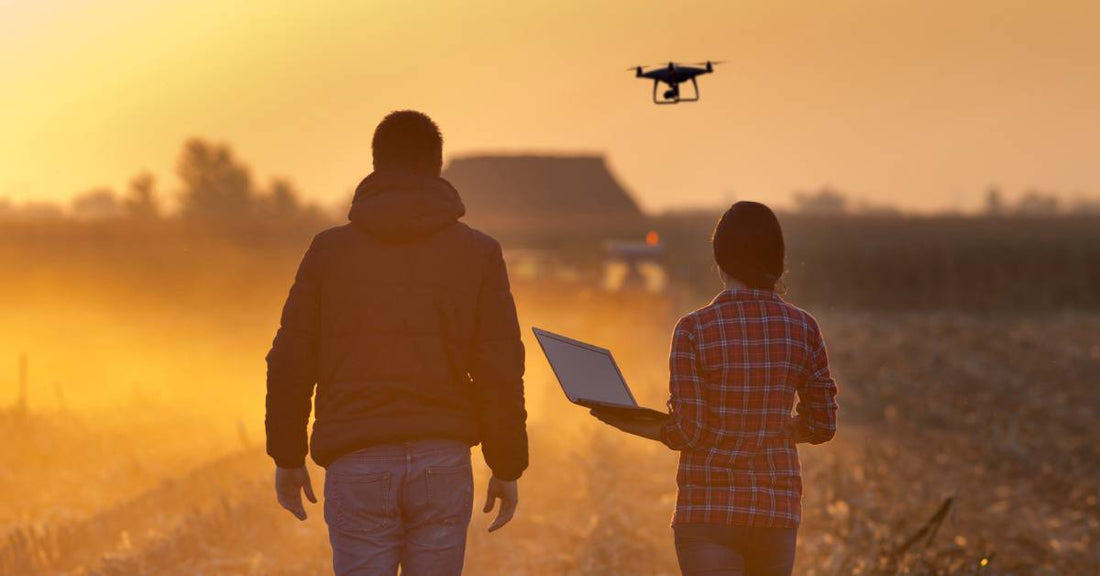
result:
[[[309,413],[317,383],[321,278],[318,241],[306,252],[271,352],[267,353],[267,402],[264,425],[267,454],[283,468],[306,464]]]

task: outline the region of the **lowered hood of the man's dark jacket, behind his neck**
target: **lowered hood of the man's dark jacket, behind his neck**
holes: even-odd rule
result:
[[[382,240],[408,242],[431,235],[465,213],[458,190],[438,176],[375,170],[355,188],[348,220]]]

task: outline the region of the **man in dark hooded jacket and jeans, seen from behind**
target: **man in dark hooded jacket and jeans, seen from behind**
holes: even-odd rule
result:
[[[462,572],[473,506],[470,446],[493,472],[490,532],[512,520],[527,467],[524,346],[501,245],[459,219],[427,115],[387,115],[350,223],[306,252],[267,354],[267,453],[279,503],[316,502],[326,467],[336,574]]]

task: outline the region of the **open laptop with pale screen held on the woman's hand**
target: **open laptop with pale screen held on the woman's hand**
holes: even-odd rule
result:
[[[656,420],[668,416],[638,406],[610,351],[540,328],[531,330],[570,402],[632,418]]]

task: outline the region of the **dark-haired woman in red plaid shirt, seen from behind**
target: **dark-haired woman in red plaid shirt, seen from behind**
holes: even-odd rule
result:
[[[833,437],[836,383],[817,323],[776,291],[776,214],[737,202],[713,244],[726,289],[676,324],[669,417],[593,413],[680,452],[672,528],[684,575],[789,576],[802,516],[795,443]]]

